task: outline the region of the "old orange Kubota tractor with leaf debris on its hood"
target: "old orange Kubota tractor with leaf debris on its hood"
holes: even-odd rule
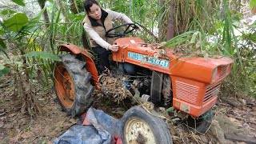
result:
[[[107,32],[109,37],[119,37],[114,42],[119,50],[113,52],[110,59],[118,63],[117,69],[128,76],[130,83],[136,83],[133,87],[141,95],[150,95],[150,102],[157,106],[173,106],[175,116],[185,130],[205,133],[212,122],[211,109],[218,98],[222,80],[230,74],[232,59],[180,58],[171,49],[166,49],[165,54],[156,58],[154,54],[161,49],[146,44],[141,38],[124,38],[134,30],[133,25],[124,24]],[[113,33],[119,27],[126,29]],[[55,89],[62,108],[68,114],[79,115],[93,102],[90,95],[94,87],[101,89],[98,71],[88,50],[70,44],[60,46],[60,50],[68,54],[60,56],[62,62],[55,66]],[[126,135],[122,136],[125,142],[129,143],[141,135],[149,143],[172,143],[170,132],[161,118],[155,120],[138,107],[131,108],[125,115],[122,130]],[[144,128],[152,132],[147,134],[145,130],[134,130],[137,125],[147,126]]]

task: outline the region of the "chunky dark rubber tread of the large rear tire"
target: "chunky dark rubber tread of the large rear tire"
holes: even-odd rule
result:
[[[60,102],[62,109],[72,117],[81,115],[92,105],[91,94],[94,92],[94,86],[90,85],[91,74],[86,70],[86,62],[75,58],[74,55],[63,54],[60,56],[62,63],[68,69],[74,82],[75,99],[71,108],[66,108]],[[58,98],[58,97],[57,97]]]

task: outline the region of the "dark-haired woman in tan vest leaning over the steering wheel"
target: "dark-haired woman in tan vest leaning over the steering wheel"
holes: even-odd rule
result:
[[[112,23],[115,19],[122,19],[127,23],[134,23],[126,14],[112,10],[102,10],[95,0],[84,2],[86,18],[82,21],[86,33],[90,37],[90,46],[94,53],[99,55],[103,69],[110,69],[109,52],[118,51],[118,46],[113,44],[114,38],[107,38],[106,31],[113,28]],[[102,70],[99,70],[102,73]]]

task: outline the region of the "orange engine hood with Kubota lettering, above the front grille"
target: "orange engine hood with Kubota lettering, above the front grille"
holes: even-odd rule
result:
[[[135,37],[118,38],[115,43],[119,50],[112,54],[114,61],[129,62],[164,74],[208,84],[225,78],[230,73],[233,62],[226,57],[180,57],[171,49],[158,49]]]

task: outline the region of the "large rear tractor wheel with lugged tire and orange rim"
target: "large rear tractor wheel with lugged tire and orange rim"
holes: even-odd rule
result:
[[[54,86],[58,101],[68,115],[80,115],[92,104],[94,86],[90,84],[91,74],[86,70],[86,62],[74,55],[60,56],[54,68]]]

